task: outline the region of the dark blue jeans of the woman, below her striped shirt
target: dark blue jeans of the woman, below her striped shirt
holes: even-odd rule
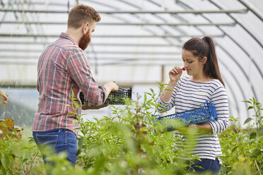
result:
[[[200,166],[203,169],[194,166]],[[219,160],[217,158],[215,160],[201,159],[201,161],[196,160],[196,162],[194,162],[194,165],[192,165],[192,168],[197,172],[211,171],[214,174],[219,174],[221,165],[219,164]]]

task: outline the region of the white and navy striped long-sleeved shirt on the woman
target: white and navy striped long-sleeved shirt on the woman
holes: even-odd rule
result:
[[[175,107],[175,113],[178,113],[199,108],[199,105],[206,100],[214,103],[218,120],[208,122],[211,125],[212,133],[197,135],[197,145],[190,154],[199,155],[201,159],[214,160],[216,156],[222,155],[217,134],[228,126],[228,95],[220,80],[214,79],[206,83],[197,83],[190,80],[189,76],[182,76],[175,85],[170,102],[163,102],[159,97],[158,104],[162,104],[160,107],[165,111]],[[158,111],[163,112],[160,109]],[[175,131],[175,140],[181,135],[179,131]],[[175,147],[181,148],[180,144],[176,144],[176,142]],[[221,159],[219,160],[221,163]]]

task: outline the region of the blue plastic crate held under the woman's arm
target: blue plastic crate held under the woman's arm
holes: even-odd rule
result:
[[[158,116],[155,119],[155,122],[164,121],[165,119],[175,119],[177,121],[180,121],[182,125],[187,126],[193,123],[197,124],[207,121],[214,121],[217,120],[218,117],[216,115],[216,108],[214,106],[214,103],[206,101],[204,104],[200,104],[200,107],[197,109],[183,111],[176,114],[170,114],[168,116]],[[167,123],[163,124],[167,125]],[[173,126],[167,126],[166,130],[173,131],[175,130],[175,128]]]

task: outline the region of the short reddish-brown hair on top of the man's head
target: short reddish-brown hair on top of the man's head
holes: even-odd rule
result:
[[[69,12],[68,28],[80,28],[81,25],[93,21],[100,21],[100,15],[94,8],[91,6],[76,5]]]

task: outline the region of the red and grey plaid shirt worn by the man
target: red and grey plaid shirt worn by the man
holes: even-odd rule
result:
[[[62,32],[59,40],[50,44],[38,60],[37,90],[39,104],[33,121],[33,131],[49,131],[57,128],[74,130],[74,116],[71,107],[72,92],[78,98],[80,90],[88,100],[88,105],[98,106],[105,102],[106,90],[98,86],[90,72],[90,63],[70,35]],[[81,114],[81,109],[77,111]]]

